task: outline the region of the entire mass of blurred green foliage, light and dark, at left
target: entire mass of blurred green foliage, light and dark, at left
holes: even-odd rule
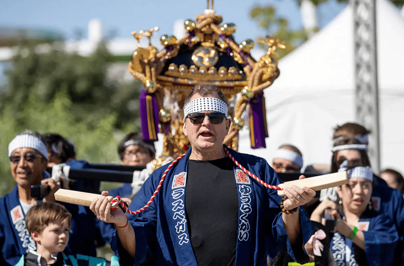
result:
[[[118,162],[118,141],[138,130],[139,84],[107,79],[111,55],[101,44],[89,57],[52,44],[45,53],[23,45],[0,89],[0,195],[15,185],[8,145],[24,129],[56,132],[73,141],[77,158]],[[131,108],[128,108],[132,105]]]

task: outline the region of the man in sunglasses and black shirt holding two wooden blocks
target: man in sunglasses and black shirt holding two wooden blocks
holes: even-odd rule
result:
[[[91,203],[98,219],[115,224],[111,246],[122,265],[266,265],[274,247],[287,250],[298,262],[309,260],[303,246],[313,226],[298,207],[315,191],[286,188],[288,199],[281,203],[275,189],[249,176],[281,183],[268,163],[223,145],[230,126],[220,89],[196,85],[184,103],[183,132],[191,148],[171,164],[150,206],[126,217],[111,210],[107,198]],[[166,169],[151,174],[130,210],[146,205]]]

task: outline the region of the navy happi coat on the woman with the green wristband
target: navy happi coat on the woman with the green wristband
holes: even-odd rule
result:
[[[365,236],[365,255],[359,259],[366,260],[369,266],[400,265],[393,263],[398,234],[393,222],[386,214],[366,211],[358,222],[358,230]],[[336,265],[358,265],[355,260],[355,249],[360,247],[335,232],[330,240],[330,250],[334,255]],[[360,251],[360,250],[359,250]]]

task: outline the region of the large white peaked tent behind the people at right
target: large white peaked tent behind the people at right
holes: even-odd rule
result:
[[[387,0],[377,1],[376,13],[381,168],[404,172],[404,18]],[[277,147],[289,143],[302,151],[306,165],[330,163],[333,128],[355,119],[352,21],[347,6],[279,61],[280,77],[265,90],[267,148],[252,150],[243,128],[240,152],[272,161]]]

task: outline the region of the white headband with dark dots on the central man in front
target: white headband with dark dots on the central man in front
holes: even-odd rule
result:
[[[188,102],[184,107],[184,123],[186,118],[191,113],[197,113],[202,111],[216,111],[223,113],[226,118],[227,114],[227,104],[218,98],[197,98],[193,101]]]

